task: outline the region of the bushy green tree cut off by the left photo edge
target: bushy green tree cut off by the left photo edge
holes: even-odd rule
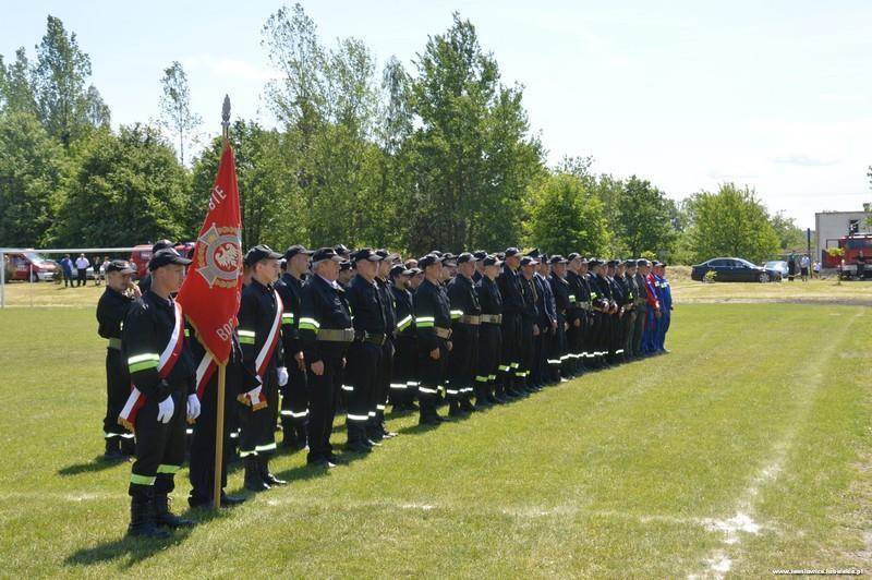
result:
[[[0,246],[48,242],[65,155],[31,113],[0,114]]]

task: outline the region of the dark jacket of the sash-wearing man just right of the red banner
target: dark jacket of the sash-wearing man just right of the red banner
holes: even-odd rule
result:
[[[249,373],[257,374],[256,358],[267,345],[278,307],[272,285],[264,286],[253,279],[242,289],[238,333],[242,346],[242,364]],[[281,312],[278,315],[281,316]],[[282,360],[281,341],[279,341],[269,360],[265,361],[264,373],[258,375],[261,379],[266,380],[267,373],[272,372]]]

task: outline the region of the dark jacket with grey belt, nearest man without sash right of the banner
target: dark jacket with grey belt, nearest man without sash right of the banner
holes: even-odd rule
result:
[[[335,351],[337,346],[331,341],[318,341],[318,330],[346,328],[351,328],[351,311],[342,287],[338,283],[334,287],[317,275],[306,279],[303,285],[298,329],[300,340],[303,342],[303,357],[307,364],[324,360],[324,357]]]

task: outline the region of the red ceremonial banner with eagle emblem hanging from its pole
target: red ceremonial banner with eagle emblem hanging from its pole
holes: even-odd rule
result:
[[[230,358],[242,293],[242,218],[233,149],[225,145],[209,210],[177,300],[218,364]]]

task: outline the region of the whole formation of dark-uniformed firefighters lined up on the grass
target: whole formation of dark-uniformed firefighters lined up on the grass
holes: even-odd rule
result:
[[[192,524],[168,499],[186,445],[189,503],[213,502],[215,377],[198,375],[204,352],[173,300],[187,264],[172,247],[155,252],[140,295],[130,265],[113,262],[97,309],[109,340],[106,457],[135,456],[132,535],[165,537]],[[330,469],[347,461],[330,440],[340,409],[343,450],[370,454],[397,435],[385,424],[388,407],[436,426],[668,352],[671,292],[659,262],[518,247],[403,262],[340,244],[283,254],[256,245],[244,266],[223,438],[252,492],[286,483],[269,468],[277,428],[282,448],[307,449],[310,466]],[[194,423],[187,444],[185,421]],[[222,506],[243,499],[221,494]]]

